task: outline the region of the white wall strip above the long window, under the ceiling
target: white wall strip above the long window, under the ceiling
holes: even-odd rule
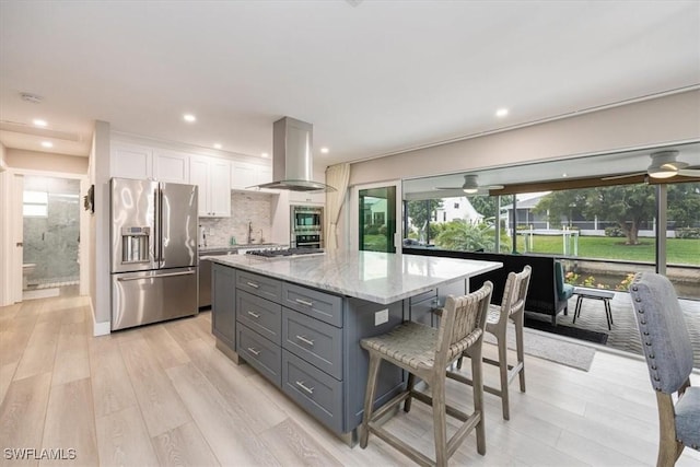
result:
[[[350,186],[697,140],[700,91],[689,91],[353,163]],[[339,231],[349,246],[347,226],[357,209],[347,211]]]

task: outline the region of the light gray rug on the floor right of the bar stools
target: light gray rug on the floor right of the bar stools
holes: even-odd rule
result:
[[[595,349],[585,345],[569,342],[557,337],[549,337],[545,332],[525,328],[523,332],[525,341],[525,353],[538,359],[571,366],[576,370],[587,372],[591,370]],[[485,342],[495,343],[495,338],[486,334]],[[513,326],[508,327],[508,348],[515,350],[515,330]]]

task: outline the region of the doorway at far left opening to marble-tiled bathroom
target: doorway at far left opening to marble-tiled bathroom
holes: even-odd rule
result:
[[[22,300],[77,293],[80,180],[25,175],[22,189]]]

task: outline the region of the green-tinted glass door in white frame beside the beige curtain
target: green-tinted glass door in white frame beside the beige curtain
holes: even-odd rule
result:
[[[398,184],[357,187],[358,249],[400,253],[397,242]]]

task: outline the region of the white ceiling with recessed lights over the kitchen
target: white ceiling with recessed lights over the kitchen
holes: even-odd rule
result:
[[[35,151],[40,117],[57,153],[98,119],[258,156],[291,116],[325,166],[699,84],[695,0],[0,2],[0,142]]]

